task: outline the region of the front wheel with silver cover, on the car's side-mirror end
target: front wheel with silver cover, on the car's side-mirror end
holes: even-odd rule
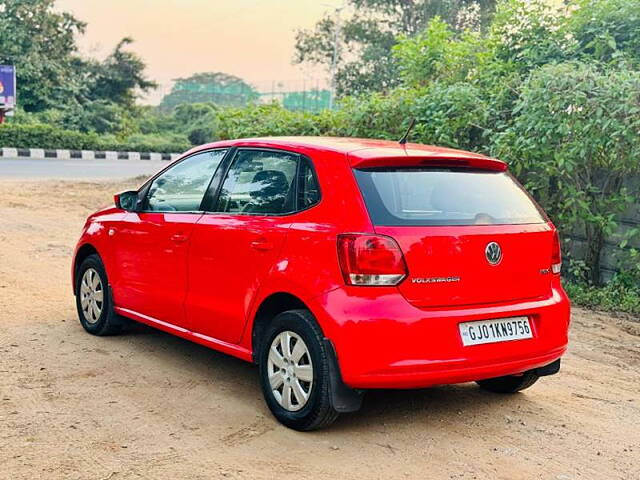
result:
[[[92,335],[116,335],[123,321],[113,311],[107,273],[100,256],[89,255],[76,275],[76,308],[82,327]]]

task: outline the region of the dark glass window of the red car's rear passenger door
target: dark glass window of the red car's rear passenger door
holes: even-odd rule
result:
[[[216,211],[273,215],[295,209],[299,156],[265,150],[239,150],[222,184]]]

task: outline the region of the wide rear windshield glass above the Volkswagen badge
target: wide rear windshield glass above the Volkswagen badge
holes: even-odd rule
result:
[[[506,172],[455,168],[357,169],[375,225],[543,223],[545,218]]]

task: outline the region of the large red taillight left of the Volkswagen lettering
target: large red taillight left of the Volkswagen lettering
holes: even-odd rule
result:
[[[407,276],[402,250],[383,235],[338,235],[338,259],[347,285],[397,285]]]

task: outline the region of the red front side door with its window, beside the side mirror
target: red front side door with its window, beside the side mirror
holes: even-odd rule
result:
[[[114,226],[115,305],[187,328],[187,255],[201,203],[224,150],[189,156],[143,189],[141,211]]]

